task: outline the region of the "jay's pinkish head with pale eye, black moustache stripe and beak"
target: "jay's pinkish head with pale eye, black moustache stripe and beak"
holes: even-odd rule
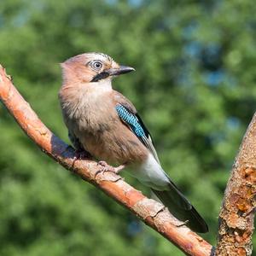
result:
[[[121,66],[102,53],[76,55],[61,63],[64,83],[97,83],[134,70]]]

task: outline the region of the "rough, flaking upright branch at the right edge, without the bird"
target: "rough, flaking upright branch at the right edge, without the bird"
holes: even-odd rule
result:
[[[241,142],[219,214],[217,255],[251,255],[256,206],[256,113]]]

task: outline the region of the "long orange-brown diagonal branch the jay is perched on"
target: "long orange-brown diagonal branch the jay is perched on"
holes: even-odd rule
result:
[[[32,139],[45,154],[57,161],[67,170],[74,172],[85,181],[130,210],[145,224],[165,236],[167,240],[188,255],[211,255],[213,247],[180,221],[172,217],[160,202],[148,199],[140,191],[112,172],[101,172],[101,167],[92,160],[75,160],[73,148],[49,131],[38,119],[29,104],[20,96],[12,84],[11,77],[0,65],[0,100],[8,108],[26,135]]]

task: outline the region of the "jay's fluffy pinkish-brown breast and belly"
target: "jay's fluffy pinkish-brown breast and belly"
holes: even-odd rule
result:
[[[62,111],[65,106],[68,108],[63,116],[69,131],[96,159],[113,164],[139,164],[147,158],[148,149],[119,119],[115,109],[118,102],[131,104],[124,96],[114,90],[95,96],[93,90],[82,87],[75,92],[67,91],[61,99],[65,101],[61,103]]]

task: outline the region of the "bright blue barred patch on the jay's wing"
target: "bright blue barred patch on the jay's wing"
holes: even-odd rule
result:
[[[146,133],[143,130],[143,126],[140,125],[137,116],[129,112],[123,105],[118,104],[116,107],[117,113],[120,119],[122,119],[131,130],[137,135],[137,137],[146,137]]]

